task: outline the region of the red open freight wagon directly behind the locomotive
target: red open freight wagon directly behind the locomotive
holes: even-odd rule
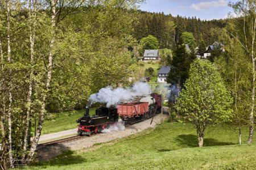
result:
[[[140,116],[148,112],[148,103],[134,102],[134,103],[127,103],[127,104],[118,104],[117,112],[121,117]]]

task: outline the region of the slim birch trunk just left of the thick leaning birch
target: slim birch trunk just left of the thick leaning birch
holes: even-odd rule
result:
[[[34,44],[35,44],[35,22],[36,22],[36,1],[33,2],[32,0],[28,2],[29,6],[29,18],[30,18],[30,79],[27,91],[27,113],[26,113],[26,128],[24,134],[24,141],[23,141],[23,156],[22,161],[24,161],[26,152],[27,152],[27,145],[28,145],[28,133],[30,132],[30,112],[31,112],[31,96],[32,96],[32,84],[33,84],[33,75],[34,75]],[[34,11],[32,11],[32,6]],[[33,16],[32,16],[32,13]]]

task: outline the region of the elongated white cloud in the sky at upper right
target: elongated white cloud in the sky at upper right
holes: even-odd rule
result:
[[[220,1],[211,1],[211,2],[200,2],[200,3],[193,3],[190,8],[194,10],[203,10],[205,8],[210,7],[224,7],[228,6],[228,2],[226,0],[220,0]]]

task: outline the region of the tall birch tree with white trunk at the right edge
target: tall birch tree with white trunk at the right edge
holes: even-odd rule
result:
[[[233,19],[233,29],[228,30],[240,43],[246,52],[246,57],[251,59],[251,101],[249,113],[249,137],[247,143],[253,142],[254,133],[254,109],[255,109],[255,33],[256,33],[256,2],[254,0],[242,0],[230,4],[234,12],[240,16]]]

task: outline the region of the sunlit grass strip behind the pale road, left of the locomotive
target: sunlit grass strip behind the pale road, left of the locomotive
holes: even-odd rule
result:
[[[95,108],[90,109],[90,114],[95,113]],[[53,113],[53,120],[44,121],[42,134],[55,133],[58,131],[75,129],[77,127],[76,120],[82,117],[84,110],[76,112]]]

